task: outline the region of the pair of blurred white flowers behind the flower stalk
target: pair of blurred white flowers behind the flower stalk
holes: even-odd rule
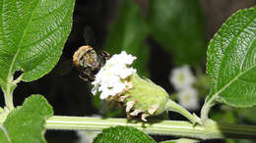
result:
[[[188,110],[197,110],[199,108],[198,92],[192,87],[196,78],[189,67],[183,66],[174,69],[171,71],[169,79],[177,90],[177,98],[180,105]]]

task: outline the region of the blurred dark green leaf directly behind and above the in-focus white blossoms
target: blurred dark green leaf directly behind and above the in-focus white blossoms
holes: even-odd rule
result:
[[[118,11],[118,17],[109,26],[105,50],[109,54],[126,51],[138,59],[133,64],[139,74],[148,76],[149,48],[145,45],[147,24],[140,15],[139,7],[131,0],[125,0]]]

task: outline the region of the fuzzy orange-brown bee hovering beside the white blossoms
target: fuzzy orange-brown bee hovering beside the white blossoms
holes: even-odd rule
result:
[[[94,44],[92,41],[94,33],[90,27],[85,28],[84,36],[86,42]],[[110,55],[99,48],[93,48],[90,45],[81,46],[73,55],[73,64],[80,71],[80,77],[85,81],[95,80],[96,73],[104,65]]]

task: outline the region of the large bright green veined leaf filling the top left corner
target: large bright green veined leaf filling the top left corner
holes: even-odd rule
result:
[[[24,71],[22,80],[32,81],[56,65],[71,30],[74,3],[0,0],[0,86],[4,91],[14,89],[15,71]]]

